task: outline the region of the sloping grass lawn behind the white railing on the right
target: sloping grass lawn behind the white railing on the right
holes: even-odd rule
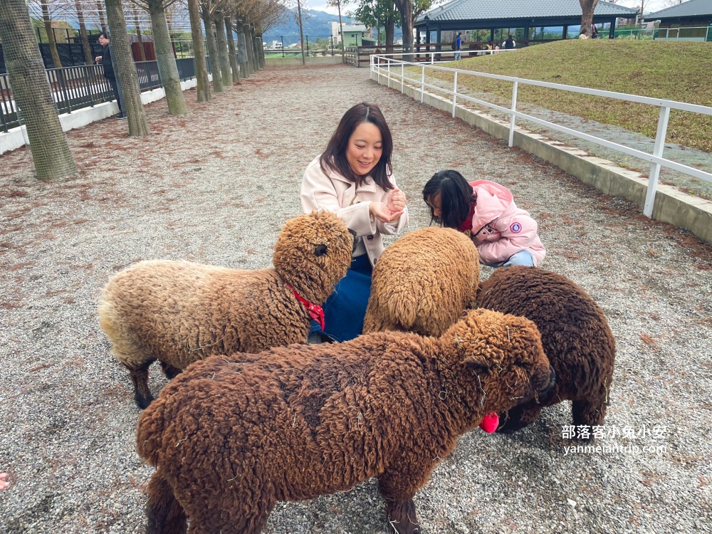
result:
[[[523,48],[515,53],[469,58],[452,66],[565,85],[712,107],[712,43],[571,40]],[[446,64],[446,66],[450,66]],[[428,75],[452,79],[449,73]],[[511,82],[461,76],[458,85],[511,98]],[[585,117],[654,138],[656,106],[520,85],[518,100]],[[671,110],[666,142],[712,152],[712,116]]]

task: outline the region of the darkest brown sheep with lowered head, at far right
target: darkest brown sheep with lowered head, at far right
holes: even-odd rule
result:
[[[565,276],[535,267],[497,269],[481,283],[476,305],[520,315],[539,328],[556,386],[537,402],[501,417],[502,431],[532,422],[543,407],[572,401],[575,425],[602,425],[613,380],[616,342],[603,310]]]

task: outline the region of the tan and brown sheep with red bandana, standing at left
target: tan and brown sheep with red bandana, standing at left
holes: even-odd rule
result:
[[[323,303],[346,275],[352,245],[335,214],[302,214],[282,227],[274,268],[142,261],[118,273],[104,288],[99,318],[131,374],[136,403],[145,408],[153,400],[148,367],[156,360],[173,378],[209,355],[306,342],[310,312],[294,291]]]

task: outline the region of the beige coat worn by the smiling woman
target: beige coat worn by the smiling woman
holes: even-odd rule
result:
[[[393,224],[383,223],[369,213],[371,202],[385,203],[388,192],[367,177],[360,187],[334,171],[328,174],[321,169],[317,156],[307,167],[302,179],[301,200],[305,213],[324,209],[337,214],[349,229],[362,238],[355,256],[367,253],[371,264],[375,264],[383,252],[381,234],[394,235],[408,226],[408,208]],[[397,187],[393,176],[390,182]],[[355,197],[355,198],[354,198]]]

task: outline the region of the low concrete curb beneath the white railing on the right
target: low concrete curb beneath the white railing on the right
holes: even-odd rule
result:
[[[374,73],[371,73],[371,79],[381,85],[401,90],[399,80],[388,80],[387,76]],[[421,98],[420,89],[412,85],[404,84],[403,93],[414,100]],[[431,108],[452,113],[452,100],[439,95],[426,91],[423,103]],[[455,117],[493,137],[509,140],[509,123],[485,112],[468,110],[461,105],[456,105]],[[604,194],[624,197],[637,204],[641,211],[643,209],[648,179],[639,172],[624,169],[607,159],[590,156],[584,150],[568,147],[562,142],[549,140],[543,135],[520,127],[515,127],[514,146],[555,164],[562,171],[577,177]],[[688,229],[702,241],[712,244],[712,201],[659,184],[653,206],[653,219]]]

